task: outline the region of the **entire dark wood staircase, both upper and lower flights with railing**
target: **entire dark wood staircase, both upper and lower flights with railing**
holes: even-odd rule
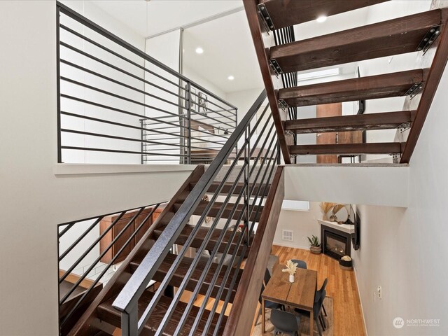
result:
[[[294,41],[290,28],[321,13],[381,2],[244,1],[266,90],[211,165],[190,174],[97,296],[63,316],[62,335],[112,335],[116,328],[133,336],[249,335],[283,201],[280,155],[286,164],[291,155],[395,154],[402,163],[411,158],[447,63],[448,11],[304,41]],[[435,52],[424,69],[302,86],[295,78],[297,71],[428,50]],[[300,106],[403,95],[403,111],[296,119]],[[261,111],[266,98],[270,114]],[[402,125],[410,127],[405,142],[300,145],[295,137]]]

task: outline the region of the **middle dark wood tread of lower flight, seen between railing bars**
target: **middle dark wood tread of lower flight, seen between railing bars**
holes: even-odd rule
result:
[[[154,233],[155,233],[156,239],[162,234],[162,231],[164,228],[165,227],[158,228],[157,230],[155,230]],[[179,244],[179,245],[185,244],[186,240],[188,239],[191,232],[193,231],[193,228],[195,228],[195,225],[186,225],[185,228],[183,228],[181,235],[176,239],[176,244]],[[206,246],[207,250],[213,250],[213,248],[216,246],[216,244],[218,242],[218,237],[221,235],[222,231],[223,230],[221,230],[221,229],[215,229],[212,232],[209,243]],[[200,246],[202,245],[202,242],[204,241],[205,236],[207,235],[207,232],[209,232],[209,228],[201,227],[198,230],[195,239],[193,239],[192,243],[190,244],[190,247],[200,248]],[[227,245],[227,242],[230,240],[231,234],[232,234],[232,230],[228,230],[227,232],[225,232],[223,241],[221,242],[221,245],[218,248],[218,252],[220,252],[220,253],[224,252],[225,246]],[[233,251],[235,251],[235,247],[236,247],[236,243],[237,243],[237,239],[238,239],[239,235],[240,235],[240,233],[237,232],[237,234],[235,235],[235,238],[233,239],[232,245],[230,246],[230,253],[233,253]],[[252,239],[253,239],[253,235],[251,236],[251,240]],[[241,245],[238,248],[238,253],[241,253],[241,251],[243,250],[242,244],[243,243],[241,243]],[[246,253],[244,253],[245,256],[248,255],[249,250],[250,250],[250,248],[246,248]]]

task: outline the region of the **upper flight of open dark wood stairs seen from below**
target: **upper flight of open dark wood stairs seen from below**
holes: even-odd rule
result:
[[[448,59],[448,9],[423,13],[356,27],[302,41],[275,38],[277,31],[349,10],[374,6],[384,0],[247,0],[246,14],[263,80],[271,104],[283,159],[294,155],[391,154],[400,163],[408,163],[419,137],[426,114]],[[279,76],[295,76],[328,66],[364,61],[404,53],[426,53],[424,69],[409,69],[376,76],[337,80],[312,85],[283,85]],[[428,56],[426,55],[426,56]],[[299,106],[355,102],[368,99],[406,96],[403,111],[335,116],[327,118],[291,118],[288,109]],[[381,111],[377,111],[381,112]],[[409,128],[405,141],[362,144],[295,143],[293,134],[386,130]]]

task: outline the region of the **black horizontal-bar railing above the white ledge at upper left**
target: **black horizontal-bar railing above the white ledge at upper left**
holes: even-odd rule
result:
[[[237,108],[57,3],[58,162],[209,163]]]

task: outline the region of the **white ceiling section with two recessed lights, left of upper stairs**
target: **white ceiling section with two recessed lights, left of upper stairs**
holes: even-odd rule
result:
[[[264,86],[244,11],[190,27],[183,34],[186,76],[191,70],[223,92]],[[204,50],[200,55],[195,52],[198,47]]]

